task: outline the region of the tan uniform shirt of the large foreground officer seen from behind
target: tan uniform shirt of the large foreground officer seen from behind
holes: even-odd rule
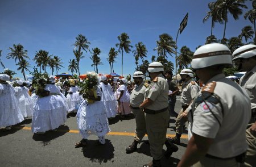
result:
[[[188,137],[191,139],[192,133],[196,133],[213,139],[209,155],[231,158],[246,151],[250,99],[237,83],[224,74],[214,76],[196,95],[191,107]]]

